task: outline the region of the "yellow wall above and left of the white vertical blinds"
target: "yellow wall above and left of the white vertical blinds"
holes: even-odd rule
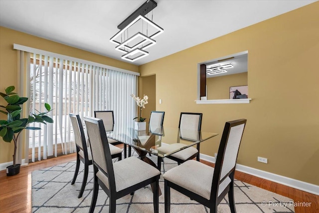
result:
[[[43,49],[50,52],[55,52],[63,55],[68,55],[76,58],[81,58],[89,61],[94,61],[109,66],[119,67],[131,71],[138,72],[139,68],[136,65],[129,64],[123,61],[108,58],[102,55],[94,54],[88,51],[80,50],[74,47],[63,45],[57,42],[39,38],[23,32],[11,30],[5,27],[0,27],[0,91],[4,88],[15,85],[16,82],[16,51],[13,50],[13,43],[29,46],[37,49]],[[16,89],[16,91],[18,91]],[[0,105],[5,105],[3,99],[0,99]],[[1,113],[0,119],[5,119]],[[23,152],[24,153],[24,152]],[[12,161],[13,142],[5,143],[0,139],[0,163]]]

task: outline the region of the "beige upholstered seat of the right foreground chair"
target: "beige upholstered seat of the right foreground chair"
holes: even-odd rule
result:
[[[163,178],[209,200],[213,174],[214,168],[198,161],[189,160],[165,172]],[[230,182],[230,178],[227,177],[219,185],[218,196]]]

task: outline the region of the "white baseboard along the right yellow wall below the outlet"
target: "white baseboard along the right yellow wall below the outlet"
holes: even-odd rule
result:
[[[204,155],[204,154],[200,154],[199,155],[200,159],[204,160],[204,161],[208,161],[211,163],[215,163],[215,158],[208,156],[208,155]],[[263,178],[278,184],[282,184],[288,187],[292,187],[298,190],[302,190],[308,193],[312,193],[315,195],[319,195],[319,186],[314,185],[314,184],[310,184],[307,182],[303,182],[303,181],[299,181],[296,179],[292,179],[292,178],[288,178],[285,176],[281,176],[281,175],[276,175],[270,172],[266,172],[266,171],[262,171],[262,170],[258,170],[255,168],[251,168],[251,167],[247,167],[244,165],[240,165],[240,164],[236,164],[236,170],[239,172],[243,172],[249,175],[253,175],[259,178]]]

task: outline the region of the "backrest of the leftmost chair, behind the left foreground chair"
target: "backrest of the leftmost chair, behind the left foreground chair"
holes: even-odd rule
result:
[[[71,120],[71,124],[73,128],[75,143],[77,147],[83,150],[84,153],[87,153],[87,144],[85,140],[85,134],[84,134],[81,118],[79,115],[75,115],[71,113],[69,114],[69,116],[70,116],[70,120]]]

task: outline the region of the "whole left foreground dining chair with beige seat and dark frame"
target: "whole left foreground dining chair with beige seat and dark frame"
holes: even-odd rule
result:
[[[109,196],[109,212],[116,212],[116,200],[153,185],[154,212],[159,212],[160,171],[136,157],[113,163],[103,120],[85,117],[93,156],[94,187],[90,213],[94,212],[99,186]]]

